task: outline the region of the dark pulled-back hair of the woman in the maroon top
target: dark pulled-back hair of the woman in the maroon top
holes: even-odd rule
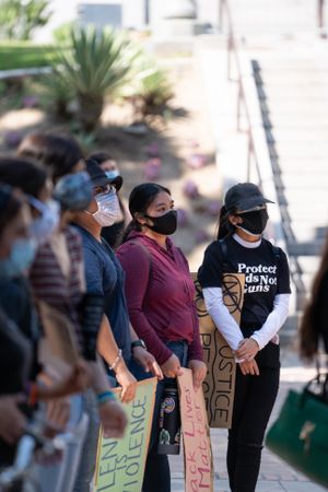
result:
[[[122,243],[128,239],[129,234],[132,231],[141,231],[142,226],[136,219],[136,214],[147,214],[148,208],[152,204],[156,196],[162,191],[171,195],[168,188],[165,188],[165,186],[162,185],[157,185],[156,183],[142,183],[141,185],[138,185],[132,189],[129,197],[129,210],[132,220],[124,233]]]

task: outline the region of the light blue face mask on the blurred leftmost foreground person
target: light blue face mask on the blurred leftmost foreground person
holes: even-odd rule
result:
[[[0,278],[13,279],[31,267],[36,255],[36,242],[33,238],[16,239],[10,256],[0,259]]]

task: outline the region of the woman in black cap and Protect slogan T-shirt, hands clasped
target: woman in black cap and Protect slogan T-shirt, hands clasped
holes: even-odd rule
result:
[[[260,189],[239,183],[225,195],[218,239],[206,249],[198,279],[204,302],[237,363],[233,422],[226,455],[231,490],[254,492],[265,431],[279,388],[279,336],[289,312],[285,254],[262,234],[269,215]],[[222,298],[222,276],[244,273],[241,327]]]

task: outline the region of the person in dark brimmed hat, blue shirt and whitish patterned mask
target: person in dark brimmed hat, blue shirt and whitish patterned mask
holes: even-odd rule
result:
[[[82,236],[86,291],[104,297],[105,316],[97,349],[107,364],[113,384],[118,382],[122,387],[121,400],[129,402],[133,400],[137,387],[137,380],[128,370],[132,356],[155,376],[162,377],[162,372],[130,326],[124,288],[125,273],[115,253],[102,237],[102,229],[114,224],[119,213],[115,183],[106,176],[96,161],[89,159],[85,164],[93,185],[93,199],[86,210],[77,214],[74,225]],[[98,425],[95,421],[84,445],[81,473],[74,492],[90,490],[96,461],[97,435]]]

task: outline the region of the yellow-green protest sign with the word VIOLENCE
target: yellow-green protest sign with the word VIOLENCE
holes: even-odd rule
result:
[[[107,440],[101,430],[94,492],[141,491],[156,385],[155,377],[137,384],[134,400],[124,406],[129,423],[121,440]]]

